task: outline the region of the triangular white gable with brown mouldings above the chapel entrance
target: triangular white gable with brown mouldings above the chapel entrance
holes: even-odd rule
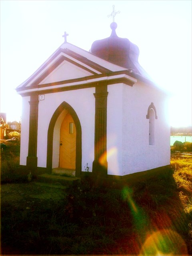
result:
[[[73,72],[70,71],[70,68]],[[44,83],[106,74],[110,72],[111,71],[107,68],[88,60],[76,52],[69,49],[58,48],[58,50],[52,54],[52,56],[50,56],[50,58],[48,58],[48,60],[44,62],[32,76],[17,87],[17,91],[21,88],[37,87]],[[57,78],[56,75],[58,75]]]

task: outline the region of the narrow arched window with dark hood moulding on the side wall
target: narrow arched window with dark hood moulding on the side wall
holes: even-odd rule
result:
[[[153,102],[148,107],[146,118],[149,119],[149,145],[155,144],[155,119],[157,119],[156,108]]]

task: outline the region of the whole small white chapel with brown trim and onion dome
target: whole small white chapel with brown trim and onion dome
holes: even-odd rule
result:
[[[110,28],[89,52],[68,43],[65,33],[16,88],[21,167],[125,178],[170,164],[168,95],[140,66],[138,46],[117,36],[115,22]]]

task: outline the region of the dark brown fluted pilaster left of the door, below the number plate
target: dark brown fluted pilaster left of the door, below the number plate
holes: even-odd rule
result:
[[[27,167],[31,171],[37,168],[37,130],[38,130],[38,94],[30,97],[29,144]]]

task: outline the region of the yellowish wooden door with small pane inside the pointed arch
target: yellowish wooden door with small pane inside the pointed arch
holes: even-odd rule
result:
[[[59,167],[75,170],[76,127],[70,114],[66,114],[60,129]]]

